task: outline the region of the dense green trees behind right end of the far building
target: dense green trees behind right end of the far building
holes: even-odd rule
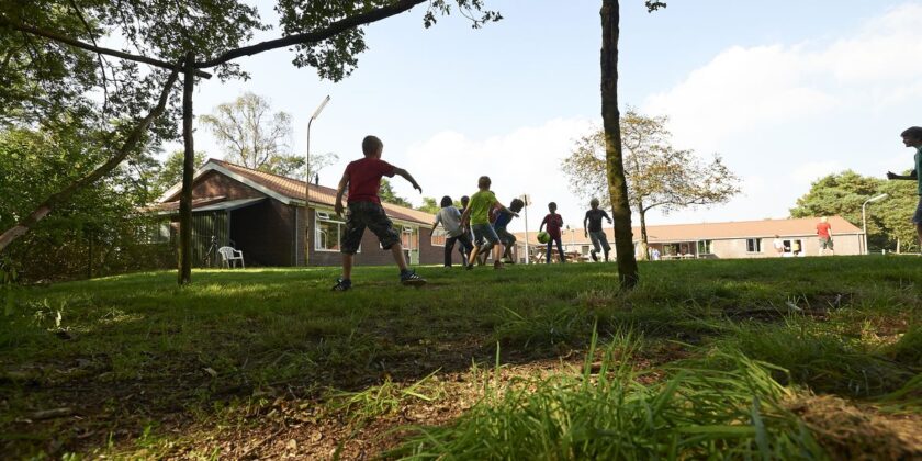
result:
[[[862,204],[881,193],[888,194],[887,199],[868,204],[865,210],[868,247],[899,250],[918,248],[915,227],[910,223],[910,217],[919,196],[915,184],[910,181],[887,181],[852,170],[828,175],[814,181],[810,190],[797,199],[790,215],[840,215],[862,227]]]

